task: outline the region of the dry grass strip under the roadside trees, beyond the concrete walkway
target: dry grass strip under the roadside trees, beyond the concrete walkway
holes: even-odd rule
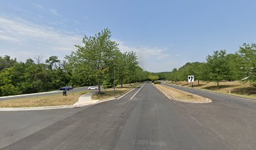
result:
[[[124,84],[123,88],[117,86],[115,88],[115,98],[119,97],[122,94],[127,93],[133,88],[136,88],[139,84]],[[103,100],[108,98],[114,98],[114,88],[105,89],[101,93],[94,93],[92,94],[92,100]]]

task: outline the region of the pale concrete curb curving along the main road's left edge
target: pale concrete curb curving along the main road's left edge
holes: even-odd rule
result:
[[[127,93],[131,92],[132,90],[134,90],[136,88],[133,88],[130,91],[127,91]],[[108,99],[102,99],[102,100],[92,100],[93,103],[87,103],[87,104],[63,105],[63,106],[44,106],[44,107],[31,107],[31,108],[0,108],[0,111],[39,111],[39,110],[48,110],[48,109],[61,109],[61,108],[80,108],[80,107],[88,106],[88,105],[92,105],[92,104],[99,104],[99,103],[103,103],[103,102],[106,102],[106,101],[112,101],[114,99],[120,98],[121,96],[124,96],[127,93],[124,93],[120,96],[117,96],[116,98],[108,98]],[[83,95],[85,95],[85,94],[83,94]]]

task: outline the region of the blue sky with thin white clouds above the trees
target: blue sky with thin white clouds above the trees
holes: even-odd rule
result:
[[[1,1],[0,56],[64,59],[83,36],[109,27],[120,51],[135,51],[144,70],[171,71],[255,43],[255,6],[253,0]]]

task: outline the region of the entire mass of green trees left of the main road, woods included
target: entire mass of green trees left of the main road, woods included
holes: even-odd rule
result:
[[[38,93],[62,86],[127,84],[147,80],[149,73],[139,67],[136,53],[121,53],[118,43],[110,40],[111,31],[83,37],[83,46],[61,61],[42,56],[18,62],[9,56],[0,57],[0,96]],[[100,89],[100,88],[99,88]]]

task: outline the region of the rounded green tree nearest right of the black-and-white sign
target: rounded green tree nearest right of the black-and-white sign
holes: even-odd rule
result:
[[[226,51],[214,51],[213,55],[207,56],[206,61],[209,78],[211,81],[215,81],[219,87],[219,82],[228,79],[228,74],[230,74]]]

